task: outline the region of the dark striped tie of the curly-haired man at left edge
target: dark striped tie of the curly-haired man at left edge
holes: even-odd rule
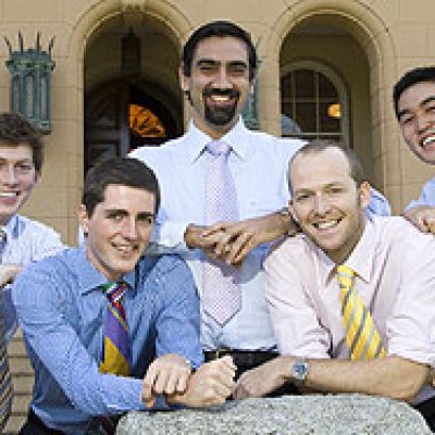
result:
[[[0,257],[5,240],[4,229],[0,228]],[[1,297],[1,293],[0,293]],[[12,408],[12,376],[9,370],[9,358],[3,334],[3,312],[0,310],[0,432],[5,426]]]

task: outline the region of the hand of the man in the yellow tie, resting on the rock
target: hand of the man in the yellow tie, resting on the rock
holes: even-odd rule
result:
[[[245,372],[237,381],[234,398],[262,397],[279,388],[290,378],[291,364],[291,358],[277,357]]]

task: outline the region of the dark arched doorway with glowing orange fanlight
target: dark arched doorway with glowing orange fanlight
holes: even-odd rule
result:
[[[183,133],[178,45],[167,24],[147,13],[114,15],[94,32],[84,63],[85,173],[104,157]]]

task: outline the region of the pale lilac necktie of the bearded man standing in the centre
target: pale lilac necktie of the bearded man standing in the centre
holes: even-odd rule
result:
[[[214,140],[207,146],[210,163],[206,185],[206,222],[237,221],[236,186],[228,166],[229,145]],[[220,325],[227,323],[241,307],[238,273],[221,261],[203,263],[203,309]]]

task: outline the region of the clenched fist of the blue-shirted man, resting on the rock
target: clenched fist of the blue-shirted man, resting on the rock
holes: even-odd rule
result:
[[[172,403],[188,408],[202,408],[224,403],[234,388],[236,366],[231,357],[202,364],[188,382],[186,393],[167,397]]]

